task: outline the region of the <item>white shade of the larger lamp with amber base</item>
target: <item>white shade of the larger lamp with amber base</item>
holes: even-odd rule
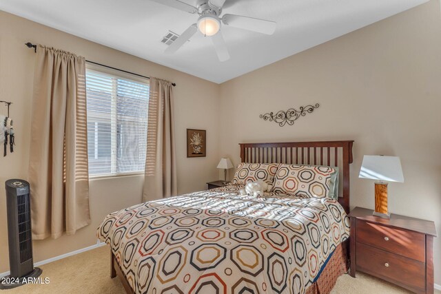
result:
[[[397,156],[365,155],[358,178],[404,182],[400,158]]]

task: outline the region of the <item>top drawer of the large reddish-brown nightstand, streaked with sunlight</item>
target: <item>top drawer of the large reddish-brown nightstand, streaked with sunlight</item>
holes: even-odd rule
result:
[[[425,262],[426,236],[422,233],[385,227],[381,224],[356,220],[356,240],[407,258]]]

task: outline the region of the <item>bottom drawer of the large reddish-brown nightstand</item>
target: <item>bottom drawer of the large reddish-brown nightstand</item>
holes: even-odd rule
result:
[[[426,268],[423,262],[404,258],[372,246],[356,244],[357,269],[415,292],[424,292]]]

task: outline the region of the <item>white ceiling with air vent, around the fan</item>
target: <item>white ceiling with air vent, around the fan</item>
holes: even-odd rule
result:
[[[181,0],[193,6],[196,0]],[[223,13],[276,21],[258,34],[224,25],[231,58],[220,62],[199,32],[175,54],[164,54],[168,30],[181,34],[197,14],[149,0],[1,0],[0,10],[182,72],[223,83],[427,0],[226,0]]]

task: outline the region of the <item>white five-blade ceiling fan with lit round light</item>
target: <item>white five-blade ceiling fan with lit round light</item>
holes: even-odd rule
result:
[[[243,17],[236,14],[223,14],[223,16],[220,17],[225,0],[197,0],[196,7],[179,0],[151,1],[192,14],[197,13],[200,16],[196,23],[190,25],[189,28],[165,50],[165,53],[169,54],[176,52],[199,30],[204,36],[209,36],[210,39],[212,39],[218,59],[220,61],[227,61],[229,59],[229,53],[223,36],[220,33],[220,26],[222,24],[231,25],[232,27],[244,30],[251,30],[253,32],[260,32],[262,34],[273,34],[276,30],[276,22],[274,21]]]

